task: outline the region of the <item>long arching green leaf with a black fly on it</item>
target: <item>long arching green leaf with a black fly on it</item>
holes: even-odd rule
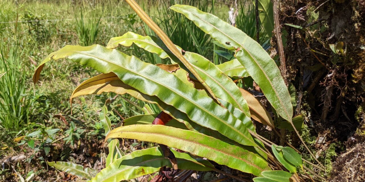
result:
[[[291,121],[293,108],[288,89],[279,68],[260,44],[238,28],[195,7],[173,5],[170,9],[182,13],[192,20],[205,33],[221,43],[224,48],[236,51],[237,60],[260,86],[277,113],[285,120]]]

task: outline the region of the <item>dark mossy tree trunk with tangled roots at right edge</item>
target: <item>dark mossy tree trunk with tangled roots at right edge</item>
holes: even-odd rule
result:
[[[287,39],[287,79],[298,92],[296,114],[306,115],[311,134],[318,136],[316,151],[325,151],[331,143],[341,144],[330,181],[364,182],[365,135],[361,128],[365,122],[360,107],[365,97],[365,1],[280,2],[279,18]],[[322,29],[309,32],[284,25],[307,27],[311,8],[319,20],[312,24]],[[345,50],[340,56],[328,46],[338,42],[343,42]]]

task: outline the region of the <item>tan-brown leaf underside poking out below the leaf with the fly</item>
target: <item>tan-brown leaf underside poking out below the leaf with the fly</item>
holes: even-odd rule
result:
[[[258,101],[249,91],[246,91],[243,88],[239,88],[239,90],[241,91],[243,98],[245,98],[247,104],[249,105],[251,118],[273,128],[273,119],[271,118],[269,112],[261,104],[261,102]]]

